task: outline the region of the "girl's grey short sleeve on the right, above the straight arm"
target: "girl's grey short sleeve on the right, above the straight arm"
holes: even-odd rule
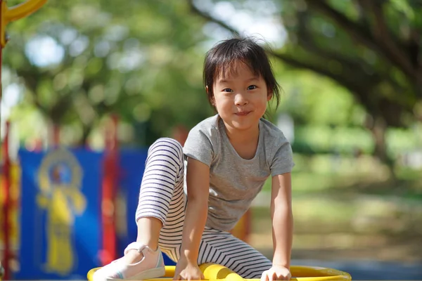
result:
[[[272,159],[270,170],[271,176],[277,176],[281,174],[290,173],[295,163],[293,162],[293,151],[288,141],[285,141],[278,145],[274,157]]]

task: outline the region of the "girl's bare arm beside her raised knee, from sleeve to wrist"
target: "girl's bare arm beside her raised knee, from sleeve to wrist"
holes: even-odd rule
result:
[[[210,167],[188,158],[186,185],[188,205],[181,241],[181,259],[197,266],[200,239],[207,221]]]

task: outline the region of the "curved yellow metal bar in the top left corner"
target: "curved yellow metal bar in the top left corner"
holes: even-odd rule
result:
[[[8,8],[6,1],[1,1],[1,17],[0,17],[0,47],[4,48],[7,43],[6,39],[6,25],[9,22],[19,20],[20,18],[25,18],[26,16],[34,13],[44,4],[47,0],[27,0],[23,4],[19,4]]]

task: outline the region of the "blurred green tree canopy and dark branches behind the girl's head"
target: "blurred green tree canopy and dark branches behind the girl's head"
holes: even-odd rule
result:
[[[9,0],[8,5],[20,2]],[[220,9],[217,18],[212,11],[218,4],[234,9]],[[366,124],[376,153],[386,159],[385,129],[407,127],[421,118],[417,4],[49,0],[29,18],[8,25],[11,41],[4,49],[3,69],[9,78],[4,86],[24,89],[13,117],[25,119],[27,128],[35,125],[27,122],[25,112],[35,106],[50,122],[71,127],[63,131],[84,143],[114,113],[132,132],[131,143],[148,145],[177,124],[190,128],[212,114],[201,82],[204,53],[217,41],[216,34],[223,39],[230,36],[227,30],[242,31],[226,19],[245,11],[252,18],[272,13],[288,32],[283,46],[269,50],[283,63],[276,65],[288,91],[281,110],[300,126]],[[383,22],[376,21],[380,11],[386,34]],[[382,43],[388,40],[396,48]],[[289,66],[307,71],[293,72]]]

